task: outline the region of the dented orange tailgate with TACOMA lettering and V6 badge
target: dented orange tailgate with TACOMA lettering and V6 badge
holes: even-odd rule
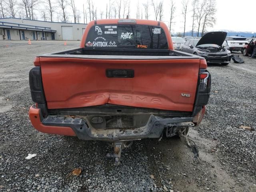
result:
[[[199,58],[40,58],[49,109],[117,104],[191,112],[199,65]],[[134,77],[107,77],[106,70],[111,69],[134,70]]]

